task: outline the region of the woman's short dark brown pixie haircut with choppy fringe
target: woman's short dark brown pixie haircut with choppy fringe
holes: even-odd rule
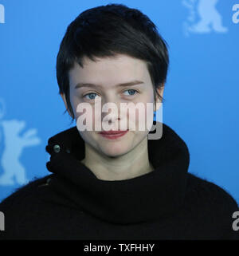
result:
[[[97,6],[82,12],[67,27],[57,54],[57,83],[59,94],[64,93],[67,110],[74,114],[69,95],[69,70],[74,63],[84,67],[84,57],[116,57],[117,54],[145,61],[151,82],[157,89],[167,81],[169,56],[167,42],[160,36],[153,22],[141,11],[123,4]]]

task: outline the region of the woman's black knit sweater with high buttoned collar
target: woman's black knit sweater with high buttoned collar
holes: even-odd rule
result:
[[[101,180],[80,163],[84,140],[76,126],[49,138],[46,151],[51,174],[0,204],[1,238],[239,239],[232,227],[237,203],[188,172],[188,148],[166,124],[160,140],[148,140],[155,170],[132,179]]]

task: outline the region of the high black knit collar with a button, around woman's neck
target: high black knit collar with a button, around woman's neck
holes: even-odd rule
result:
[[[139,223],[177,211],[186,191],[188,148],[166,124],[159,140],[147,141],[149,161],[155,170],[112,181],[98,179],[80,163],[84,140],[76,126],[57,133],[45,148],[51,155],[46,167],[55,174],[49,187],[76,207],[111,223]]]

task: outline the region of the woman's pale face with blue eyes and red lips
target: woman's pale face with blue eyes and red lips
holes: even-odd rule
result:
[[[130,82],[134,83],[121,85]],[[153,124],[155,108],[153,85],[144,61],[123,54],[116,55],[114,58],[98,58],[96,62],[84,58],[83,69],[75,63],[73,69],[69,71],[69,86],[70,102],[80,136],[97,152],[106,156],[122,156],[147,138]],[[61,96],[65,101],[65,96]],[[82,103],[87,103],[92,108],[92,112],[85,110],[77,112],[77,107]],[[109,107],[107,112],[101,111],[104,104],[110,106],[111,103],[114,103],[117,108]],[[135,109],[133,118],[129,115],[129,110],[120,111],[122,103],[131,103],[128,106]],[[138,103],[143,104],[144,108],[141,108],[141,111],[135,108]],[[147,107],[147,103],[151,103],[151,108]],[[97,113],[95,113],[96,110]],[[77,122],[83,114],[88,119],[88,124],[92,124],[90,131],[82,131],[80,122]],[[147,124],[149,117],[151,117],[150,123]],[[123,122],[126,124],[126,128],[123,126]],[[140,122],[141,125],[144,124],[143,131],[142,128],[139,128]],[[84,122],[84,124],[86,123]],[[134,125],[130,126],[133,123],[135,123],[135,129],[132,128]],[[95,124],[100,124],[100,130],[96,130]],[[101,131],[108,129],[104,124],[112,125],[110,129],[126,130],[130,128],[130,130],[123,136],[112,140],[100,134]],[[150,127],[147,126],[149,124]]]

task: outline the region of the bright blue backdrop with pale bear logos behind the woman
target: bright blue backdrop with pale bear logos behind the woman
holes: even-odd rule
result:
[[[49,175],[45,145],[70,125],[56,57],[82,11],[109,1],[0,0],[0,200]],[[186,142],[189,171],[239,203],[238,0],[114,1],[147,14],[167,41],[163,123]]]

